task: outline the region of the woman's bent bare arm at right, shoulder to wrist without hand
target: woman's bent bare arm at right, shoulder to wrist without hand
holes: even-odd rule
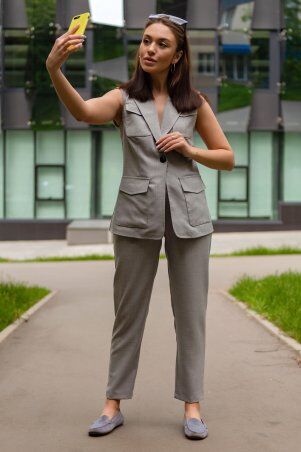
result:
[[[206,100],[198,109],[196,130],[208,149],[192,146],[192,158],[208,168],[231,171],[235,165],[234,152]]]

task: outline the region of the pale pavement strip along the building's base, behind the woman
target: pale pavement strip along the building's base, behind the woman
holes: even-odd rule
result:
[[[211,254],[231,253],[253,246],[301,248],[301,231],[219,232],[212,236]],[[164,239],[162,240],[162,253]],[[49,256],[113,255],[113,244],[72,245],[66,240],[0,241],[0,258],[32,259]]]

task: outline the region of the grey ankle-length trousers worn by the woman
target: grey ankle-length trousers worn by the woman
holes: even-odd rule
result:
[[[166,191],[165,253],[177,342],[174,397],[204,399],[208,267],[212,233],[197,238],[175,235]],[[158,269],[162,239],[113,234],[114,310],[106,397],[131,399],[141,342]]]

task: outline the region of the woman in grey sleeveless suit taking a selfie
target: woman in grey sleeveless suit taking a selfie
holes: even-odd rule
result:
[[[174,397],[184,401],[184,433],[202,439],[208,264],[213,232],[205,185],[196,162],[231,171],[234,154],[205,95],[191,87],[187,21],[149,16],[131,80],[84,101],[60,71],[82,46],[77,27],[59,37],[46,61],[58,96],[89,124],[113,120],[124,151],[123,175],[112,216],[115,322],[106,401],[89,435],[124,422],[120,400],[133,396],[141,341],[162,237],[168,261],[177,338]],[[67,50],[70,44],[74,48]],[[208,150],[192,146],[194,130]],[[141,271],[143,269],[143,271]]]

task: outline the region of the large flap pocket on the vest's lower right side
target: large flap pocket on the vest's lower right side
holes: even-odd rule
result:
[[[209,223],[211,216],[205,195],[205,184],[199,174],[180,177],[191,226]]]

